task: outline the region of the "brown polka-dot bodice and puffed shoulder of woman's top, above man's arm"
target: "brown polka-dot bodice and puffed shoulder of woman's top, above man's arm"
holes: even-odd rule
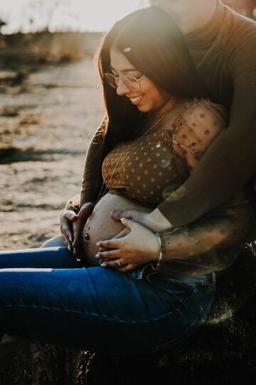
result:
[[[118,143],[102,163],[108,190],[156,207],[177,190],[225,127],[223,108],[210,101],[184,103],[169,129]]]

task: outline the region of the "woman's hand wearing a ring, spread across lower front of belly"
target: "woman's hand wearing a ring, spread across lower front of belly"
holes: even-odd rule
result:
[[[121,222],[129,230],[128,233],[124,231],[112,240],[97,242],[100,251],[95,257],[101,261],[101,266],[128,272],[146,262],[157,261],[159,242],[154,232],[133,220],[123,218]],[[126,235],[120,237],[121,234]]]

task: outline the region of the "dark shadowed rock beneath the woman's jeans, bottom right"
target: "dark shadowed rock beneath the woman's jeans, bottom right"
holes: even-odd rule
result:
[[[221,272],[208,321],[191,338],[149,356],[81,351],[75,384],[255,384],[255,258],[247,247]]]

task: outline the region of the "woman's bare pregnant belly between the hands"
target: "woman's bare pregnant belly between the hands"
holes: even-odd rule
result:
[[[149,207],[122,197],[108,193],[95,205],[92,214],[87,219],[82,231],[82,250],[85,260],[90,266],[99,266],[95,258],[98,247],[96,243],[100,240],[110,240],[114,235],[124,230],[124,225],[110,217],[110,211],[114,210],[139,210],[151,212]]]

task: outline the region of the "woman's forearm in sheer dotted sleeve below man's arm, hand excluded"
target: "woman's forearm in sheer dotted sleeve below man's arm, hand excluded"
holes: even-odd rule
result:
[[[197,276],[224,270],[238,257],[252,225],[252,207],[243,194],[186,227],[161,234],[163,259],[159,272]]]

